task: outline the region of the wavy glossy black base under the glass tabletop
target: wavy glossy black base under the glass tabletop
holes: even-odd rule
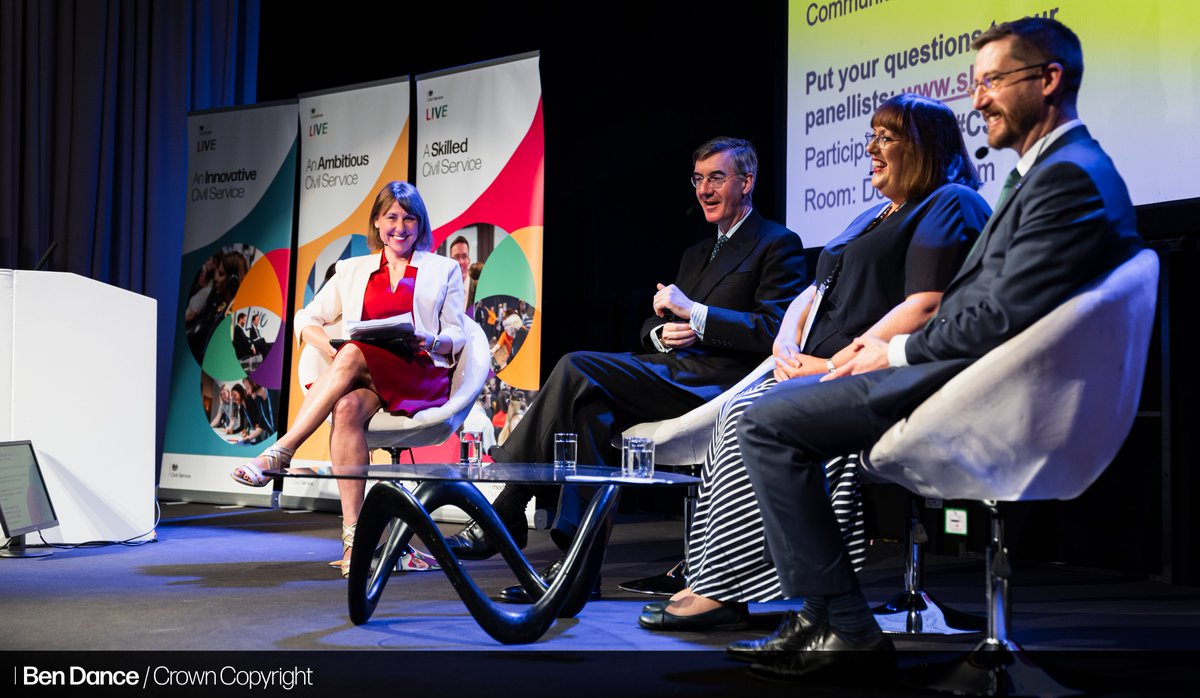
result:
[[[467,610],[487,634],[504,644],[535,642],[556,618],[574,616],[587,603],[604,562],[619,492],[616,485],[598,489],[578,534],[566,550],[562,572],[547,586],[517,548],[496,510],[472,483],[431,480],[419,485],[415,492],[408,492],[395,482],[379,482],[371,488],[362,504],[350,554],[347,586],[350,620],[361,625],[371,618],[396,560],[415,535],[437,558]],[[461,507],[497,543],[517,582],[535,600],[532,606],[510,610],[511,607],[502,607],[479,589],[458,558],[450,552],[445,537],[428,515],[443,505]],[[383,552],[377,555],[376,541],[395,519],[401,523],[392,529]]]

